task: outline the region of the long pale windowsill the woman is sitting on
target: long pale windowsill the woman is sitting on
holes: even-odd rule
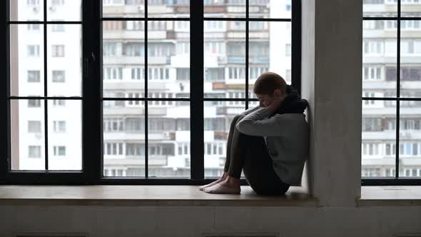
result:
[[[318,206],[304,188],[285,196],[208,194],[198,186],[0,186],[0,206]]]

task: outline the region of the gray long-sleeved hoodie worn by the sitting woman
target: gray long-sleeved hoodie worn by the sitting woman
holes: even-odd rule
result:
[[[283,182],[300,186],[310,145],[305,114],[275,114],[268,118],[268,109],[260,106],[242,114],[245,117],[237,123],[238,131],[263,136],[275,173]]]

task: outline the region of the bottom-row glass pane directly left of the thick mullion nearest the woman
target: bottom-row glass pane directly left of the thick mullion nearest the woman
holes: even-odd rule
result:
[[[149,176],[190,177],[190,157],[190,103],[148,106]]]

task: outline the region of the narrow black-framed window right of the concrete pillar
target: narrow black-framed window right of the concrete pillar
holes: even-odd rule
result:
[[[364,4],[390,8],[364,8],[362,185],[420,183],[421,141],[416,134],[421,129],[421,94],[415,84],[421,80],[421,64],[413,59],[421,54],[421,38],[410,35],[420,33],[421,21],[408,12],[413,6],[405,6],[415,1],[365,0]]]

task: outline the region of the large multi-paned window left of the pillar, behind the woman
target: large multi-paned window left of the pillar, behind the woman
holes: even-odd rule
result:
[[[152,7],[148,14],[146,2]],[[13,73],[1,70],[8,83],[19,84],[14,88],[19,96],[0,92],[7,99],[4,104],[19,104],[19,119],[14,117],[16,108],[4,113],[6,119],[23,122],[19,130],[4,130],[20,138],[15,147],[22,152],[11,157],[11,163],[41,163],[19,176],[61,184],[129,179],[144,184],[198,183],[219,176],[233,114],[258,102],[245,85],[252,89],[255,79],[271,70],[300,88],[300,66],[293,65],[300,62],[300,14],[291,18],[284,13],[298,12],[294,6],[300,5],[288,0],[268,11],[270,1],[250,0],[252,8],[262,10],[263,20],[256,21],[253,14],[245,16],[245,2],[205,1],[218,8],[209,19],[198,16],[201,11],[190,12],[188,4],[202,4],[191,0],[18,4],[23,9],[17,12],[34,14],[26,3],[36,5],[38,12],[32,20],[7,21],[0,29],[0,35],[11,34],[6,37],[6,58],[24,58],[19,66],[11,65]],[[91,9],[96,5],[103,9]],[[86,8],[101,15],[94,19],[97,14],[81,14]],[[270,18],[281,16],[277,11],[285,17]],[[230,15],[235,18],[226,17]],[[22,31],[6,32],[10,26]],[[197,42],[203,43],[201,50],[195,49]],[[288,53],[283,53],[286,47]],[[13,183],[16,173],[0,176]],[[102,174],[113,178],[106,180]]]

